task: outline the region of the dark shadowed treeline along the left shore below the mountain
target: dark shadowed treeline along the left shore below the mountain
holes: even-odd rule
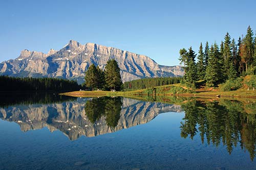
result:
[[[79,88],[76,81],[64,79],[0,76],[0,91],[73,91]]]

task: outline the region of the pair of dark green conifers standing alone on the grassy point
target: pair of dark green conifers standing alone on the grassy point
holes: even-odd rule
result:
[[[122,88],[120,68],[115,59],[106,62],[104,71],[99,66],[90,65],[86,71],[85,80],[84,85],[92,90],[121,90]]]

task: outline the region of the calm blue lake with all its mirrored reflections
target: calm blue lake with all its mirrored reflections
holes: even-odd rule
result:
[[[0,169],[256,169],[254,100],[0,96]]]

